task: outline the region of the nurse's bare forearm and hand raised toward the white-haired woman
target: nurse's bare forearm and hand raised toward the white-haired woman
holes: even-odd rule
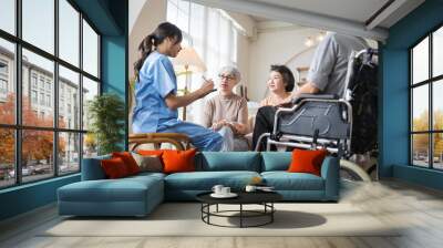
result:
[[[194,101],[204,97],[205,95],[209,94],[214,90],[214,82],[213,81],[206,81],[203,83],[202,87],[190,92],[186,95],[175,95],[175,94],[168,94],[165,97],[165,102],[167,107],[171,110],[177,110],[178,107],[182,106],[187,106]]]

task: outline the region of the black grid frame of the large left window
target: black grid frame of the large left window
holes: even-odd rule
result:
[[[59,176],[68,176],[72,174],[78,174],[82,169],[82,158],[83,158],[83,140],[84,140],[84,134],[87,133],[87,130],[83,128],[83,120],[79,120],[79,126],[78,128],[62,128],[59,127],[59,65],[64,66],[68,70],[71,70],[75,73],[79,74],[79,103],[80,103],[80,110],[79,110],[79,116],[82,116],[83,114],[83,97],[82,97],[82,91],[83,91],[83,76],[94,81],[99,85],[99,92],[97,95],[102,94],[103,85],[102,85],[102,76],[101,76],[101,58],[102,58],[102,50],[101,50],[101,41],[102,41],[102,33],[97,30],[97,28],[92,23],[92,21],[80,10],[80,8],[73,2],[72,0],[65,0],[76,12],[79,12],[79,20],[76,21],[79,24],[80,33],[79,33],[79,64],[74,65],[71,64],[70,62],[61,59],[59,55],[59,23],[60,23],[60,16],[59,16],[59,1],[60,0],[53,0],[54,4],[54,51],[53,54],[50,52],[47,52],[45,50],[38,48],[37,45],[33,45],[31,42],[28,42],[22,39],[22,2],[23,0],[16,0],[14,1],[14,12],[16,12],[16,23],[14,23],[14,34],[11,34],[4,30],[0,29],[0,39],[11,42],[14,45],[14,58],[13,58],[13,72],[12,75],[10,76],[12,79],[12,83],[14,84],[14,90],[16,90],[16,121],[13,124],[2,124],[0,123],[0,128],[2,130],[12,130],[14,132],[14,183],[11,185],[6,185],[6,186],[0,186],[0,190],[6,189],[6,188],[11,188],[11,187],[18,187],[21,185],[25,184],[32,184],[41,180],[48,180],[51,178],[55,178]],[[89,72],[83,70],[83,21],[85,21],[92,30],[97,34],[97,76],[94,76],[90,74]],[[23,72],[23,58],[22,58],[22,51],[23,49],[35,53],[37,55],[40,55],[47,60],[50,60],[53,62],[53,82],[52,82],[52,93],[50,94],[50,105],[53,107],[53,124],[51,127],[43,127],[43,126],[30,126],[30,125],[23,125],[22,123],[22,94],[23,94],[23,89],[22,89],[22,72]],[[32,74],[31,74],[32,73]],[[30,79],[33,79],[33,72],[30,71]],[[38,74],[37,74],[38,75]],[[47,80],[44,80],[43,89],[40,90],[40,76],[38,75],[37,78],[37,87],[33,85],[33,81],[30,80],[28,82],[29,84],[29,90],[35,90],[39,96],[40,92],[44,92],[45,97],[47,97],[47,87],[45,86]],[[29,95],[31,96],[31,95]],[[32,96],[31,96],[32,97]],[[32,101],[30,97],[30,101]],[[40,99],[38,99],[38,102]],[[45,101],[44,101],[45,102]],[[44,103],[42,106],[47,106],[47,103]],[[47,106],[48,107],[48,106]],[[39,113],[38,113],[39,114]],[[23,175],[22,175],[22,132],[23,131],[50,131],[52,132],[53,135],[53,149],[52,149],[52,174],[48,174],[48,177],[44,177],[42,179],[33,179],[33,180],[23,180]],[[79,135],[79,169],[75,172],[69,172],[69,173],[61,173],[59,172],[60,169],[60,162],[59,162],[59,136],[63,133],[72,133],[72,134],[78,134]]]

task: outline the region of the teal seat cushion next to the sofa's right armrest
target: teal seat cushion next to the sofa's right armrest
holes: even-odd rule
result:
[[[276,190],[323,190],[323,178],[309,173],[265,172],[265,184]]]

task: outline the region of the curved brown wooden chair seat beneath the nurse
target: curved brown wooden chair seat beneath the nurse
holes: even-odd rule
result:
[[[130,134],[128,137],[131,151],[135,151],[142,144],[154,144],[154,148],[159,149],[162,143],[173,144],[178,151],[184,151],[189,148],[190,138],[186,134],[179,133]]]

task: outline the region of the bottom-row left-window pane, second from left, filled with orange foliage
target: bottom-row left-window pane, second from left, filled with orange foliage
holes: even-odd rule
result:
[[[23,182],[39,180],[54,175],[54,133],[24,130],[22,132]]]

